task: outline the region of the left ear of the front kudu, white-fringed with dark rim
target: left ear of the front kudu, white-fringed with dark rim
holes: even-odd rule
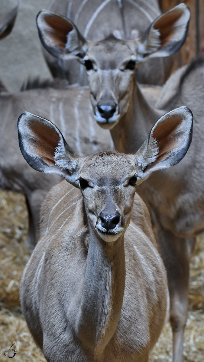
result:
[[[52,122],[24,112],[18,120],[18,132],[20,150],[32,168],[44,173],[57,173],[79,188],[80,159]]]

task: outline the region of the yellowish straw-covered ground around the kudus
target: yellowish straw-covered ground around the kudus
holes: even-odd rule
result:
[[[20,194],[0,191],[0,362],[8,361],[4,352],[19,350],[15,362],[45,362],[34,344],[21,315],[19,284],[29,260],[25,199]],[[150,362],[171,361],[171,328],[165,325]],[[204,237],[197,238],[191,261],[189,314],[185,330],[184,361],[204,361]]]

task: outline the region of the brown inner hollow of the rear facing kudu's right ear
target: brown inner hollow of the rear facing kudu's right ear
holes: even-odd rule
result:
[[[174,38],[175,23],[182,16],[183,11],[180,9],[172,10],[170,13],[164,14],[154,24],[154,29],[160,32],[161,46],[166,47],[170,40]]]

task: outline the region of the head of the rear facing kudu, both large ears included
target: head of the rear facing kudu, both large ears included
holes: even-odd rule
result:
[[[187,36],[189,18],[187,5],[179,4],[132,40],[110,35],[102,41],[87,41],[72,21],[48,10],[38,14],[37,27],[42,44],[52,55],[77,58],[86,67],[95,119],[101,127],[111,129],[127,112],[135,67],[148,58],[178,51]]]

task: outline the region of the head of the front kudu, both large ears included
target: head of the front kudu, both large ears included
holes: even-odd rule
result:
[[[52,122],[25,112],[18,121],[19,145],[31,167],[60,174],[80,188],[89,225],[101,239],[115,241],[130,223],[136,185],[183,159],[192,122],[191,111],[180,107],[156,122],[134,155],[104,151],[78,157]]]

